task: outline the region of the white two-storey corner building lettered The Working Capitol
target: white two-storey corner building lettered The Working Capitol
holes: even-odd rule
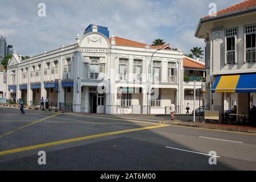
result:
[[[183,113],[183,52],[108,39],[93,26],[76,43],[7,66],[7,95],[28,105],[49,97],[73,111],[106,114]]]

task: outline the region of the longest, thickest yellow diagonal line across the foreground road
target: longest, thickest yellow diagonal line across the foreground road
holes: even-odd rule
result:
[[[60,145],[60,144],[79,142],[81,140],[88,140],[88,139],[93,139],[93,138],[106,137],[106,136],[110,136],[110,135],[129,133],[129,132],[133,132],[133,131],[150,130],[150,129],[156,129],[156,128],[159,128],[159,127],[167,127],[167,126],[169,126],[169,125],[148,126],[148,127],[141,127],[141,128],[138,128],[138,129],[120,130],[120,131],[113,131],[113,132],[109,132],[109,133],[90,135],[90,136],[80,137],[80,138],[60,140],[60,141],[56,141],[56,142],[38,144],[38,145],[35,145],[35,146],[15,148],[15,149],[12,149],[12,150],[1,151],[0,155],[14,154],[14,153],[17,153],[17,152],[35,150],[37,148],[56,146],[56,145]]]

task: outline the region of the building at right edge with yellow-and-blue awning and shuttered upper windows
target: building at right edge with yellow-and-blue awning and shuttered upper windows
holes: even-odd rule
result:
[[[248,114],[256,105],[256,1],[247,0],[200,19],[195,36],[205,40],[207,107]]]

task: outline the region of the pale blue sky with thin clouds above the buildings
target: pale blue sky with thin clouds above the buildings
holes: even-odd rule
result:
[[[146,44],[161,38],[189,53],[192,47],[205,46],[194,33],[209,3],[221,10],[242,0],[1,1],[0,34],[20,55],[37,55],[75,43],[90,23],[109,27],[110,36]],[[46,4],[46,17],[38,16],[41,2]]]

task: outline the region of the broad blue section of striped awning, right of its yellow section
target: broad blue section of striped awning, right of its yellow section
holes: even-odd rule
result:
[[[240,75],[236,92],[256,92],[256,74]]]

